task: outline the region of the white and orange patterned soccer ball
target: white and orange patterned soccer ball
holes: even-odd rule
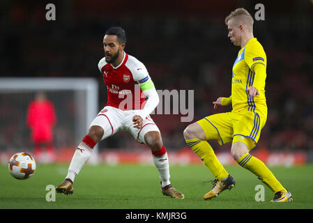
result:
[[[8,162],[8,170],[14,178],[26,180],[35,173],[36,162],[27,153],[15,153]]]

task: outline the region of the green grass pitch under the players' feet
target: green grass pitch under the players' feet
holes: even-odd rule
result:
[[[68,164],[38,165],[28,180],[10,176],[7,165],[0,165],[0,208],[109,208],[109,209],[211,209],[211,208],[313,208],[313,165],[270,167],[280,182],[293,194],[291,203],[269,203],[273,193],[264,186],[265,201],[254,197],[257,185],[263,185],[250,171],[239,166],[226,167],[236,179],[231,191],[211,201],[202,199],[211,189],[212,174],[201,165],[171,166],[171,183],[185,199],[162,195],[155,167],[140,165],[85,165],[75,179],[74,194],[56,194],[46,201],[47,185],[59,185]]]

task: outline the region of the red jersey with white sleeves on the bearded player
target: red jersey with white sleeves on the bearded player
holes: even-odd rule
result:
[[[144,64],[124,52],[119,66],[112,66],[105,57],[98,63],[107,86],[107,105],[122,110],[143,109],[145,96],[139,83],[150,79]]]

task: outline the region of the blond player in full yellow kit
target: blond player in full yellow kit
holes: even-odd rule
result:
[[[238,8],[226,17],[225,23],[231,43],[240,46],[241,50],[232,68],[231,96],[217,98],[213,108],[232,105],[233,109],[231,112],[207,116],[188,125],[183,132],[188,146],[215,176],[213,187],[204,195],[204,199],[217,197],[220,192],[235,185],[234,178],[217,160],[207,142],[217,139],[221,145],[232,142],[232,157],[273,191],[272,202],[292,201],[291,193],[280,184],[264,162],[249,153],[257,145],[267,118],[264,91],[267,61],[262,45],[253,36],[253,18],[247,10]]]

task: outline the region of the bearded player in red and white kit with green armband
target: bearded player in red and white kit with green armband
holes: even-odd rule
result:
[[[124,52],[125,43],[126,35],[121,27],[106,31],[103,38],[105,57],[99,61],[98,68],[107,86],[107,105],[91,122],[89,133],[72,157],[68,175],[56,191],[72,194],[75,176],[89,160],[93,147],[116,132],[125,131],[151,148],[153,163],[161,178],[162,194],[183,199],[184,195],[169,181],[167,151],[158,126],[149,116],[159,103],[158,93],[144,64]]]

